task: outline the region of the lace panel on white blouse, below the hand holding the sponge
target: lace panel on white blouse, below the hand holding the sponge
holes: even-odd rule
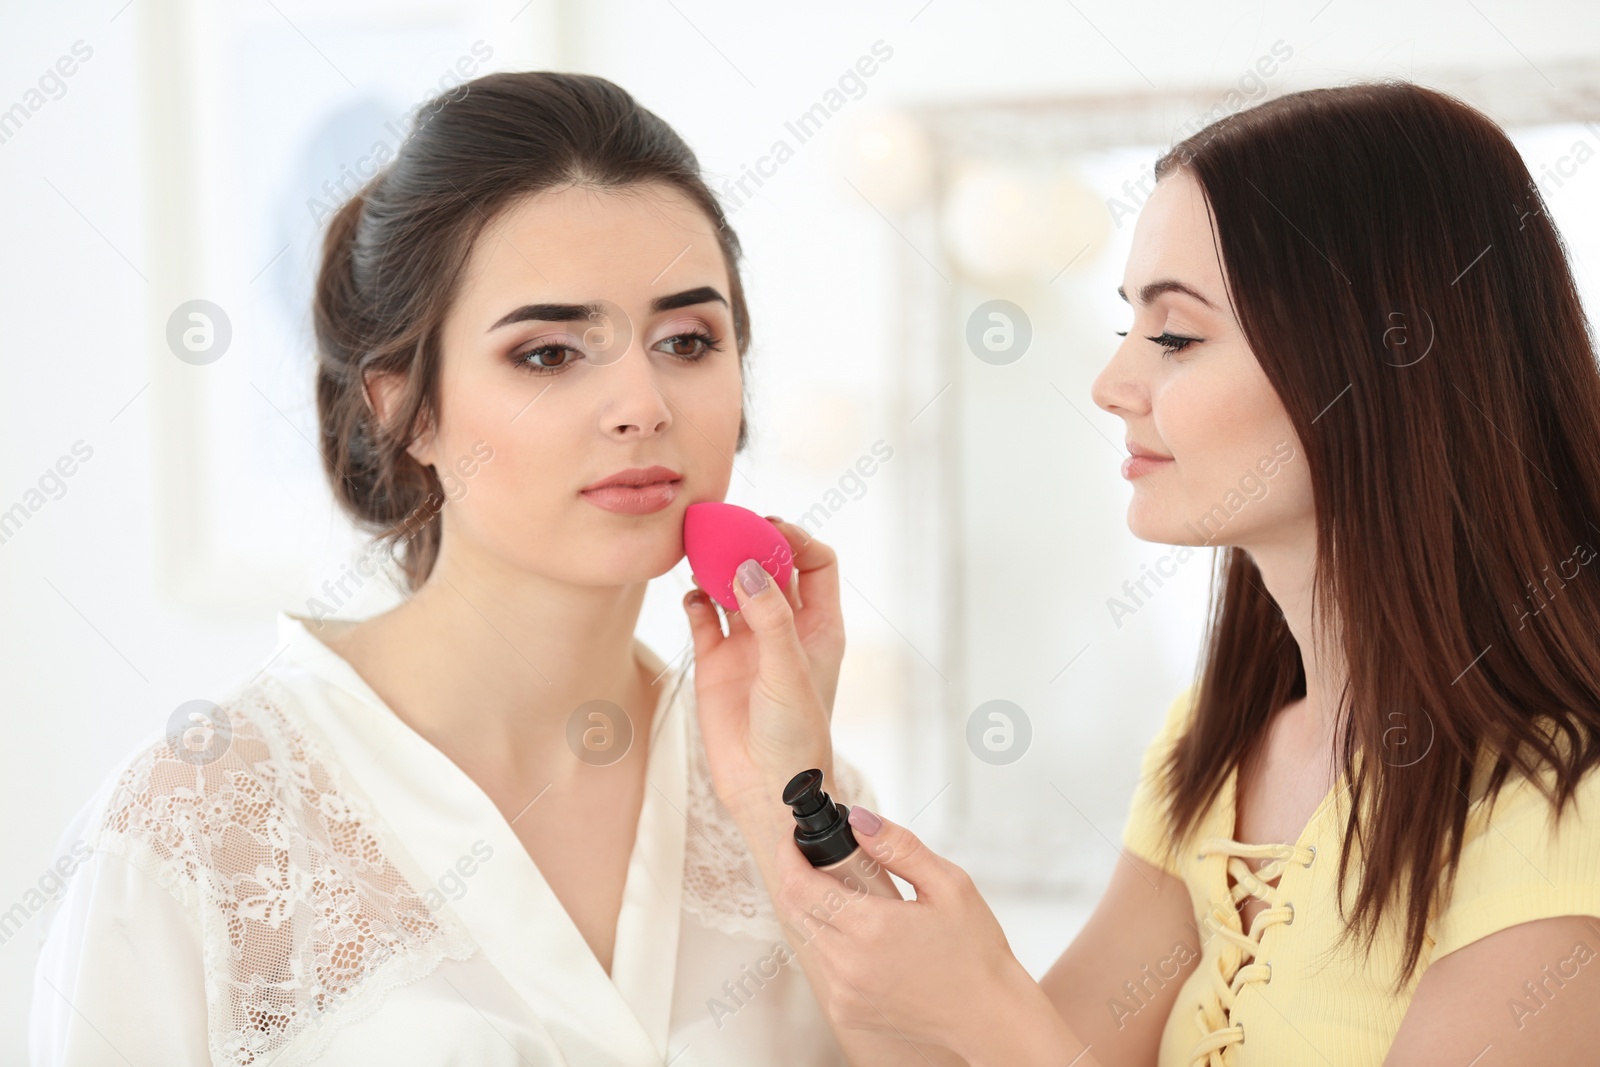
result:
[[[693,685],[693,678],[683,685]],[[782,941],[782,925],[762,885],[755,857],[710,781],[710,763],[693,702],[688,718],[688,782],[683,838],[683,910],[702,925],[758,941]],[[834,800],[875,803],[861,773],[834,755],[837,784],[824,785]]]

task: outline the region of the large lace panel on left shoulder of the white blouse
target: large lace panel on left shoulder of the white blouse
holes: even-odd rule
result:
[[[91,845],[160,881],[198,920],[216,1064],[320,1054],[384,993],[477,944],[384,856],[384,830],[283,713],[242,689],[118,776]]]

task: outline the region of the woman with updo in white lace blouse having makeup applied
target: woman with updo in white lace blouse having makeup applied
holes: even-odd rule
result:
[[[834,553],[782,525],[798,579],[755,565],[726,635],[693,590],[693,685],[634,637],[746,442],[739,243],[694,155],[594,77],[419,115],[331,219],[314,309],[333,493],[410,595],[282,614],[85,806],[35,1062],[952,1062],[840,1041],[763,889],[784,782],[834,782]],[[758,669],[757,630],[787,656]]]

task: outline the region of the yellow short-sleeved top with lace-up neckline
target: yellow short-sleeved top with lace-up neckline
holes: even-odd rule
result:
[[[1442,912],[1435,907],[1418,973],[1398,997],[1392,995],[1389,987],[1403,955],[1403,915],[1394,909],[1384,915],[1370,958],[1362,957],[1354,937],[1336,947],[1341,929],[1334,877],[1349,811],[1342,774],[1294,843],[1270,845],[1232,840],[1237,773],[1229,774],[1184,848],[1171,859],[1165,856],[1166,830],[1154,776],[1187,725],[1192,694],[1194,686],[1173,701],[1146,749],[1122,835],[1128,851],[1189,888],[1202,937],[1200,965],[1184,981],[1166,1019],[1158,1067],[1379,1067],[1432,961],[1517,923],[1600,915],[1600,773],[1584,776],[1574,797],[1578,806],[1563,809],[1552,833],[1549,801],[1515,769],[1493,811],[1485,809],[1485,773],[1493,765],[1485,760],[1474,779],[1454,893]],[[1272,862],[1251,872],[1245,857]],[[1358,875],[1360,857],[1354,856],[1346,912]],[[1269,885],[1274,878],[1277,886]],[[1267,904],[1248,933],[1237,910],[1245,896]],[[1165,977],[1174,977],[1192,958],[1192,949],[1174,945],[1163,960]],[[1142,997],[1165,984],[1162,971],[1158,966],[1142,984],[1125,987],[1112,1013],[1136,1013]],[[1520,1006],[1507,1005],[1518,1017],[1538,1009],[1533,992]]]

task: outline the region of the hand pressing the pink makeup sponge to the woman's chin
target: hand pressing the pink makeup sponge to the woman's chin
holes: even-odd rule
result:
[[[736,577],[739,611],[723,635],[715,603],[701,590],[683,606],[694,637],[694,688],[712,784],[739,817],[758,809],[779,822],[782,787],[816,766],[832,781],[829,720],[845,624],[838,611],[838,558],[792,523],[774,522],[794,549],[794,579],[778,589],[760,563],[750,593]]]

